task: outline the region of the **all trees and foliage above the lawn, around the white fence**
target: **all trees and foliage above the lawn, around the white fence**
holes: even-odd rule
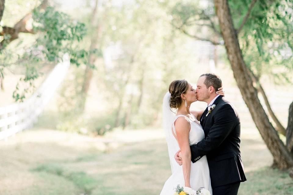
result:
[[[54,128],[160,126],[172,80],[231,68],[276,165],[292,165],[292,104],[285,126],[264,86],[292,84],[291,0],[2,0],[0,21],[3,89],[5,75],[17,75],[14,100],[25,101],[64,53],[77,65],[55,100]]]

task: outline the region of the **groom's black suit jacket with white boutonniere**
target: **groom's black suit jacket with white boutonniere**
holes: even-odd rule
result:
[[[240,120],[233,105],[219,96],[201,116],[204,139],[190,146],[192,162],[206,155],[212,187],[246,181],[240,156]]]

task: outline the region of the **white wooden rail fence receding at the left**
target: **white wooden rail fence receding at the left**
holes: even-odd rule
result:
[[[64,79],[69,66],[69,57],[64,55],[63,61],[54,67],[42,86],[30,98],[21,103],[0,107],[0,140],[7,140],[7,137],[33,126]]]

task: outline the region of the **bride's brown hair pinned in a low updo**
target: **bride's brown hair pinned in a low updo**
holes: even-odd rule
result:
[[[182,104],[181,94],[185,94],[188,90],[188,82],[186,80],[174,80],[169,85],[170,108],[179,108]]]

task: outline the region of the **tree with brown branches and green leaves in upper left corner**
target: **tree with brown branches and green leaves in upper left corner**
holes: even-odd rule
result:
[[[65,53],[69,53],[71,63],[79,66],[87,51],[79,49],[75,43],[85,35],[85,25],[56,11],[47,0],[9,3],[2,6],[1,87],[5,84],[5,71],[23,74],[13,98],[15,101],[24,101],[27,95],[33,93],[34,80],[42,74],[41,69],[50,62],[56,63]],[[4,0],[1,5],[4,5]]]

